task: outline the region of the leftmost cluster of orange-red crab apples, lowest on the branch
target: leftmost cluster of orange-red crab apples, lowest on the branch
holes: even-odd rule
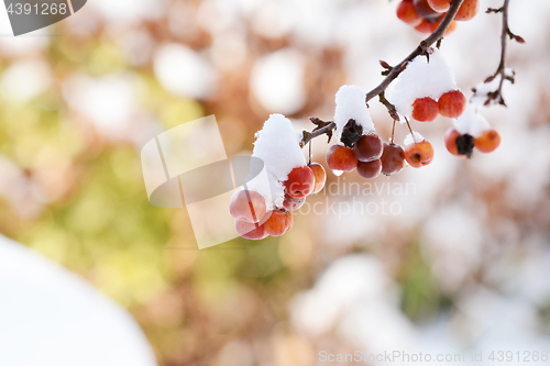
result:
[[[250,240],[280,236],[293,228],[290,211],[298,210],[309,195],[318,193],[324,187],[327,173],[319,163],[294,168],[284,181],[283,208],[267,210],[265,198],[253,190],[242,189],[233,193],[229,212],[235,219],[239,235]]]

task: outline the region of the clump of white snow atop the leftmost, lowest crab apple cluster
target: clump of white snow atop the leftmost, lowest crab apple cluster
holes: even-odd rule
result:
[[[252,156],[264,162],[268,187],[258,179],[252,179],[248,188],[264,197],[271,196],[271,202],[266,202],[267,209],[280,208],[285,198],[283,181],[294,168],[307,164],[299,145],[300,134],[293,127],[290,120],[276,113],[270,115],[255,136]],[[265,195],[266,190],[268,195]]]

